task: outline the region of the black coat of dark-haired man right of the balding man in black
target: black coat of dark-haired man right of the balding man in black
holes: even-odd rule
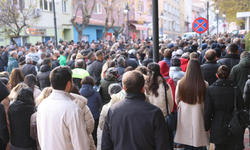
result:
[[[226,65],[231,71],[233,66],[237,65],[240,62],[240,57],[238,56],[238,54],[227,54],[225,57],[222,57],[217,62],[220,65]]]

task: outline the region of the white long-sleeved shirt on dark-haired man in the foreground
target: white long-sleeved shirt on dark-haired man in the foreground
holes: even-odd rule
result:
[[[53,90],[37,111],[37,134],[42,150],[89,150],[82,110],[69,93]]]

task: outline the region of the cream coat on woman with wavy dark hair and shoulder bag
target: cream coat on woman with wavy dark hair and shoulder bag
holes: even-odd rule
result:
[[[147,84],[147,83],[146,83]],[[163,80],[162,78],[158,78],[158,84],[159,88],[157,90],[158,92],[158,97],[156,97],[151,91],[149,93],[146,92],[149,101],[151,104],[159,107],[164,115],[164,117],[167,117],[167,107],[166,107],[166,98],[165,98],[165,88],[163,85]],[[174,107],[174,100],[173,100],[173,93],[171,86],[168,84],[168,90],[167,90],[167,98],[168,98],[168,110],[169,113],[172,112],[173,107]]]

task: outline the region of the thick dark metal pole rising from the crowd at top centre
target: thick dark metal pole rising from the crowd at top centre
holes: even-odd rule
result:
[[[153,60],[159,61],[159,16],[158,16],[158,0],[152,0],[153,4]]]

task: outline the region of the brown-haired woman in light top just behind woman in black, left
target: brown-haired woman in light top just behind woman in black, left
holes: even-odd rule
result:
[[[38,86],[36,86],[36,77],[33,74],[29,74],[25,77],[24,83],[28,85],[33,91],[34,100],[40,95],[41,91]]]

